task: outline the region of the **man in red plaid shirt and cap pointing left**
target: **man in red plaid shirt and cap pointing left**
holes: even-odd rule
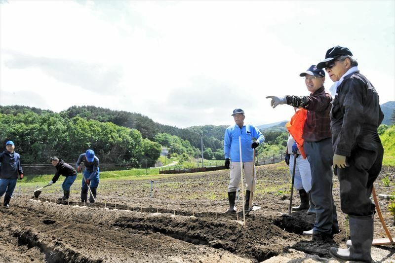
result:
[[[339,233],[336,206],[332,196],[332,160],[331,130],[329,112],[332,97],[325,92],[325,72],[312,65],[299,74],[305,77],[309,96],[268,96],[271,106],[288,104],[294,108],[306,109],[307,116],[303,126],[304,150],[312,172],[310,196],[316,208],[316,222],[313,229],[304,231],[312,235],[313,241],[330,241]]]

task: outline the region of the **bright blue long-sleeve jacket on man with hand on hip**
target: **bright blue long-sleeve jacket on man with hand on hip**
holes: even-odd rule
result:
[[[240,161],[240,151],[238,145],[238,137],[241,136],[241,158],[243,162],[251,162],[253,160],[253,149],[251,148],[252,139],[262,144],[265,137],[251,124],[239,127],[237,124],[229,126],[225,131],[224,151],[225,158],[230,158],[233,162]]]

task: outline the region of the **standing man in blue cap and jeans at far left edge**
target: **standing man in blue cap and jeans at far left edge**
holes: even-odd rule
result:
[[[5,193],[4,206],[8,208],[16,180],[23,179],[23,170],[21,157],[14,151],[14,143],[12,141],[6,142],[5,149],[0,153],[0,197]]]

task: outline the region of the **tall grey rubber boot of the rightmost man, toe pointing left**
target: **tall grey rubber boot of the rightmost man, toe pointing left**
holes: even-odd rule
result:
[[[372,262],[370,250],[373,242],[373,215],[356,217],[349,215],[351,246],[347,249],[329,249],[329,254],[339,261]]]

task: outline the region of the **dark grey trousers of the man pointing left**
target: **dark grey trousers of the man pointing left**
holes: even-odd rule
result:
[[[316,205],[316,223],[313,231],[331,234],[332,229],[339,229],[332,196],[332,140],[327,138],[319,142],[305,141],[304,149],[312,170],[311,197]]]

